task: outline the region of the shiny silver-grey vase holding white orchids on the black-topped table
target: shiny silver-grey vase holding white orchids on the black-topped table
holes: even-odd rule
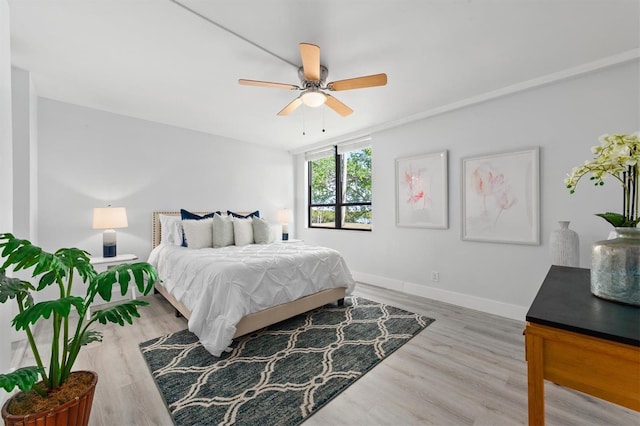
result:
[[[640,306],[640,228],[616,228],[618,237],[598,241],[591,256],[591,293]]]

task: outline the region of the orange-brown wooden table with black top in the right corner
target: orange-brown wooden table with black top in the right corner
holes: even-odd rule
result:
[[[640,411],[640,308],[591,294],[588,269],[552,266],[527,313],[529,425],[544,380]]]

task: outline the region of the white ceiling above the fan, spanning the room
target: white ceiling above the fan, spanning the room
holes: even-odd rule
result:
[[[42,97],[296,151],[637,58],[640,40],[640,0],[176,1],[197,14],[172,0],[9,0],[12,63]],[[298,84],[299,42],[320,46],[328,81],[389,82],[333,93],[346,118],[279,117],[296,92],[237,81]]]

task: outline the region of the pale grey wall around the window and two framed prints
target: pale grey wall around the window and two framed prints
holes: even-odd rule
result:
[[[340,250],[356,279],[524,319],[549,265],[548,235],[570,220],[581,266],[609,225],[593,213],[621,209],[621,191],[588,183],[569,195],[564,177],[591,157],[603,133],[640,129],[638,61],[434,116],[373,134],[373,231],[306,229],[306,189],[296,187],[297,233]],[[540,147],[541,244],[461,241],[461,158]],[[395,225],[395,159],[449,150],[449,229]],[[303,155],[296,182],[305,181]],[[431,271],[440,281],[431,281]]]

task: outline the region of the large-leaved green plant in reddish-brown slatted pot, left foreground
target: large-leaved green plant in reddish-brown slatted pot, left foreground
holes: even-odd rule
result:
[[[90,263],[89,253],[77,248],[61,248],[47,253],[27,240],[15,238],[10,233],[0,234],[0,303],[14,300],[18,314],[12,325],[26,333],[36,365],[19,368],[8,374],[0,374],[0,387],[7,392],[16,387],[21,392],[9,398],[2,407],[5,425],[27,424],[36,417],[46,417],[46,424],[86,425],[89,420],[93,392],[97,383],[94,372],[74,372],[73,365],[83,346],[102,341],[102,334],[92,329],[96,322],[131,324],[140,317],[138,308],[148,305],[143,300],[127,300],[100,310],[90,311],[97,295],[111,300],[113,286],[117,283],[123,295],[129,285],[134,285],[146,295],[157,281],[157,272],[146,262],[122,264],[97,273]],[[34,282],[10,278],[6,271],[31,272]],[[74,281],[80,280],[86,288],[84,297],[74,296]],[[56,297],[35,302],[34,292],[51,288]],[[89,312],[91,312],[89,314]],[[76,315],[77,314],[77,315]],[[50,324],[50,345],[37,343],[33,328],[38,323]],[[45,355],[48,355],[45,358]],[[76,391],[75,387],[84,389]],[[70,401],[66,394],[72,394]],[[22,406],[44,408],[23,408]],[[36,413],[37,412],[37,413]],[[53,423],[57,412],[67,418],[64,423]],[[42,423],[44,424],[44,423]]]

